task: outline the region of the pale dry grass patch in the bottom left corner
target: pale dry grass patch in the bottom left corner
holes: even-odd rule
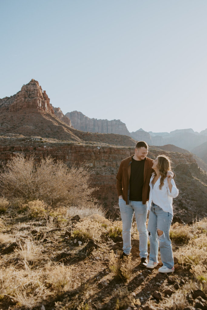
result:
[[[18,270],[10,266],[0,270],[0,294],[15,299],[18,305],[31,309],[48,296],[73,287],[71,268],[48,262],[44,268],[32,269],[28,263]],[[51,290],[52,288],[52,290]]]

